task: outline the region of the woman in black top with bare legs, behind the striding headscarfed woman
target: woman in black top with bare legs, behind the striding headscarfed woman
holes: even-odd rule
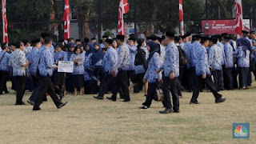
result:
[[[133,88],[134,86],[137,86],[138,84],[143,84],[143,78],[147,70],[147,63],[146,63],[146,52],[142,50],[142,43],[144,42],[144,39],[138,39],[138,46],[137,46],[137,52],[135,54],[135,75],[133,78],[131,78],[131,85],[129,86],[129,90]],[[144,92],[145,96],[147,95],[147,88],[148,83],[146,82],[144,84]]]

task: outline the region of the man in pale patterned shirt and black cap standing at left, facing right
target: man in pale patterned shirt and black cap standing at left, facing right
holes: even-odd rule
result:
[[[13,76],[17,81],[17,91],[16,91],[16,104],[15,105],[26,105],[22,102],[22,98],[25,94],[26,86],[26,66],[30,62],[26,62],[26,55],[24,53],[24,43],[18,41],[16,43],[17,50],[10,54],[9,65],[13,67]]]

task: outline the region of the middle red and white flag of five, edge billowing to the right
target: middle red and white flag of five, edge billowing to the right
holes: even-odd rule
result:
[[[119,0],[118,8],[118,34],[126,35],[126,26],[123,21],[123,14],[128,13],[130,10],[127,0]]]

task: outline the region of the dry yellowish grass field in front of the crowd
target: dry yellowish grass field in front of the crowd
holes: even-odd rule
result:
[[[180,114],[159,114],[162,102],[138,110],[145,100],[142,93],[131,94],[127,103],[67,95],[64,101],[69,103],[61,110],[49,97],[42,111],[34,112],[29,104],[14,106],[11,91],[0,96],[0,143],[256,143],[255,85],[222,91],[227,100],[221,104],[204,92],[200,105],[190,105],[192,94],[183,93]],[[250,122],[250,139],[232,138],[234,122]]]

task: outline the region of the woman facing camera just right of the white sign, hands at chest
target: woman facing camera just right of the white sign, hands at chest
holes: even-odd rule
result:
[[[73,86],[74,86],[74,95],[78,95],[78,90],[80,95],[83,94],[83,77],[85,73],[85,69],[83,63],[85,62],[85,55],[81,53],[81,45],[75,46],[74,54],[71,55],[70,61],[74,62],[74,70],[73,70]]]

